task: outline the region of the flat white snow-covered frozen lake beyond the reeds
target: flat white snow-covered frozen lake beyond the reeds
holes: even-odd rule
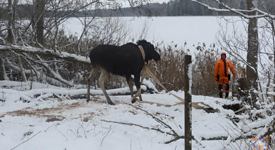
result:
[[[164,42],[170,44],[174,42],[178,45],[184,45],[187,42],[187,48],[193,49],[193,45],[206,43],[208,48],[210,44],[215,43],[215,37],[220,29],[220,25],[228,29],[228,34],[232,35],[233,25],[226,24],[224,18],[234,21],[234,26],[238,30],[245,32],[244,25],[239,17],[215,17],[215,16],[177,16],[177,17],[121,17],[129,23],[132,32],[129,36],[138,36],[145,22],[149,25],[147,41]],[[66,22],[65,30],[67,32],[82,32],[82,25],[76,18],[71,18]],[[216,44],[217,45],[217,44]]]

